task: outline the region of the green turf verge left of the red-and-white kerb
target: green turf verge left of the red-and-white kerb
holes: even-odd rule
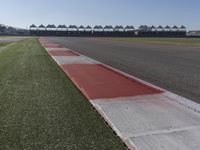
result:
[[[33,38],[0,52],[0,149],[125,147]]]

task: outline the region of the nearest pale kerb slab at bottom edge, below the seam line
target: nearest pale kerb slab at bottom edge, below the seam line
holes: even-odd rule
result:
[[[138,150],[199,150],[200,129],[131,138]],[[164,144],[163,144],[164,143]]]

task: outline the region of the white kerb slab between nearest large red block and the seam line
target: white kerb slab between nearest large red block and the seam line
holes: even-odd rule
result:
[[[159,97],[162,97],[162,99],[159,100]],[[116,99],[96,99],[92,100],[91,103],[95,105],[100,114],[105,118],[107,122],[111,122],[112,124],[110,125],[113,130],[123,139],[124,143],[128,143],[131,145],[133,148],[132,149],[137,149],[135,145],[138,143],[135,143],[133,139],[139,139],[142,137],[149,137],[149,136],[156,136],[156,135],[167,135],[167,134],[173,134],[173,133],[181,133],[181,132],[190,132],[193,129],[199,129],[200,126],[198,125],[197,122],[198,120],[195,121],[195,119],[199,119],[199,113],[185,108],[185,106],[179,105],[176,101],[172,101],[168,99],[167,97],[163,96],[163,94],[155,94],[155,95],[145,95],[145,96],[133,96],[131,97],[123,97],[123,98],[117,98]],[[153,100],[153,103],[152,103]],[[161,102],[161,103],[160,103]],[[130,105],[131,104],[131,105]],[[143,105],[145,104],[145,105]],[[152,104],[152,105],[151,105]],[[155,105],[154,105],[155,104]],[[164,105],[163,105],[164,104]],[[167,105],[165,105],[167,104]],[[119,107],[118,107],[119,106]],[[122,107],[121,107],[122,106]],[[148,106],[148,107],[146,107]],[[152,108],[151,112],[149,111]],[[159,109],[161,111],[157,111],[158,107],[161,106]],[[172,106],[172,107],[171,107]],[[112,108],[112,110],[108,110],[109,108]],[[146,110],[146,109],[147,110]],[[165,109],[167,108],[167,109]],[[168,109],[169,108],[169,109]],[[155,110],[155,111],[154,111]],[[175,110],[175,112],[173,111]],[[184,110],[184,111],[183,111]],[[169,112],[166,112],[169,111]],[[120,113],[121,112],[121,113]],[[134,122],[133,124],[126,124],[123,123],[126,120],[123,118],[126,115],[128,115],[126,112],[129,112],[129,116],[127,119],[130,120],[130,122]],[[144,112],[144,113],[143,113]],[[155,114],[156,112],[160,112],[161,114]],[[141,115],[140,115],[141,113]],[[183,114],[182,114],[183,113]],[[114,115],[116,114],[116,115]],[[143,115],[142,115],[143,114]],[[154,125],[158,125],[157,122],[152,122],[149,121],[140,121],[139,118],[144,118],[144,114],[147,117],[152,115],[154,117],[150,117],[150,120],[158,120],[159,126],[156,128],[152,129],[152,127],[155,127]],[[180,115],[182,114],[182,115]],[[196,114],[197,118],[190,118],[190,114]],[[198,114],[198,116],[197,116]],[[133,115],[130,117],[130,115]],[[175,116],[173,116],[175,115]],[[135,117],[136,116],[136,117]],[[155,117],[156,116],[156,117]],[[133,118],[137,118],[134,120]],[[179,119],[180,117],[180,119]],[[185,118],[185,120],[183,119]],[[182,118],[182,119],[181,119]],[[129,122],[128,120],[128,122]],[[132,121],[131,121],[132,120]],[[166,120],[166,122],[165,122]],[[180,120],[180,121],[179,121]],[[118,123],[117,123],[117,122]],[[183,122],[182,122],[183,121]],[[189,122],[188,122],[189,121]],[[194,121],[194,122],[193,122]],[[120,122],[120,123],[119,123]],[[129,122],[129,123],[130,123]],[[141,124],[143,122],[143,124]],[[149,122],[149,124],[148,124]],[[159,123],[160,122],[160,123]],[[150,128],[143,128],[139,127],[138,125],[141,124],[143,127],[145,125],[148,125]],[[112,125],[116,125],[113,127]],[[122,126],[123,125],[123,126]],[[152,130],[151,130],[152,129]],[[133,131],[133,132],[129,132]],[[120,133],[120,134],[119,134]],[[128,145],[127,144],[127,145]],[[138,145],[137,145],[138,146]],[[130,147],[130,146],[129,146]]]

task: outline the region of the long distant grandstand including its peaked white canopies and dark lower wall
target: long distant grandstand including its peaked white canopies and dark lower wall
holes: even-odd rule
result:
[[[185,37],[186,27],[176,26],[165,27],[141,25],[139,28],[134,28],[132,25],[123,27],[122,25],[95,25],[94,27],[83,25],[58,25],[49,24],[47,26],[36,26],[32,24],[29,27],[31,35],[36,36],[85,36],[85,37]]]

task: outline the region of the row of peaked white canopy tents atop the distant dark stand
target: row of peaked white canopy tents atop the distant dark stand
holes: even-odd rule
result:
[[[84,27],[83,25],[81,26],[76,26],[76,25],[70,25],[69,27],[67,27],[66,25],[58,25],[57,27],[55,25],[40,25],[40,26],[36,26],[34,24],[32,24],[29,27],[30,30],[47,30],[47,31],[136,31],[136,29],[133,26],[126,26],[123,27],[122,25],[117,25],[115,27],[111,26],[111,25],[106,25],[106,26],[101,26],[101,25],[96,25],[93,28],[91,26],[86,26]],[[138,31],[186,31],[186,27],[185,26],[176,26],[174,25],[173,27],[170,26],[165,26],[162,27],[161,25],[159,25],[158,27],[155,26],[146,26],[146,25],[141,25],[138,29]]]

